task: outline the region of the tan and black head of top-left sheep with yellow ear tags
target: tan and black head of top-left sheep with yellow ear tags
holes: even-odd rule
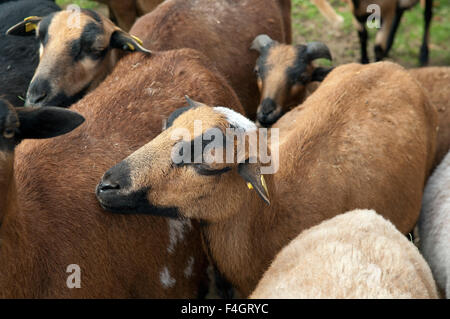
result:
[[[29,17],[7,34],[36,36],[40,41],[40,62],[26,105],[70,106],[103,81],[123,52],[150,54],[137,38],[84,9]]]

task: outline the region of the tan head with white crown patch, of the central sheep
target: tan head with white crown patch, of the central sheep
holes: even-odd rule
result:
[[[97,187],[103,208],[218,221],[239,211],[244,196],[269,202],[258,159],[248,149],[240,152],[238,139],[227,139],[256,125],[228,108],[189,104],[169,117],[159,136],[105,173]]]

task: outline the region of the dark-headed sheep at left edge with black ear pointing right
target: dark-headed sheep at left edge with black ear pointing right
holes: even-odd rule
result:
[[[57,107],[14,108],[0,98],[0,225],[5,214],[17,214],[14,148],[24,139],[42,139],[71,132],[84,122],[76,112]]]

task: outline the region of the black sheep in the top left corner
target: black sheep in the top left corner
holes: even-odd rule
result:
[[[48,0],[23,0],[0,4],[0,96],[11,104],[23,105],[28,84],[39,62],[38,41],[9,37],[5,32],[28,15],[59,11]]]

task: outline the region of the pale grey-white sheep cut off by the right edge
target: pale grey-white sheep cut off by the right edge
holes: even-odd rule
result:
[[[428,179],[418,231],[419,248],[442,294],[450,298],[450,153]]]

